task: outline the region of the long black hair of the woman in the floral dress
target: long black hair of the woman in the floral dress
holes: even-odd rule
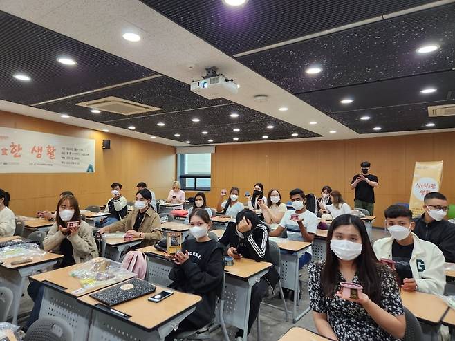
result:
[[[341,282],[339,273],[339,260],[335,253],[331,250],[331,239],[333,232],[342,225],[353,225],[359,232],[362,239],[362,253],[355,259],[357,273],[360,284],[363,286],[363,292],[369,298],[379,304],[381,297],[381,273],[391,271],[387,266],[380,264],[375,256],[373,247],[371,246],[368,233],[366,233],[365,224],[351,214],[342,214],[333,219],[327,233],[327,253],[326,262],[321,273],[321,283],[324,288],[324,293],[328,297],[335,295],[337,285]]]

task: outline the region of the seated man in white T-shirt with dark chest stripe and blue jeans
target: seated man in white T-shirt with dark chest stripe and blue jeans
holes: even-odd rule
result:
[[[311,242],[315,238],[317,232],[317,216],[313,212],[305,208],[305,193],[300,188],[296,188],[289,192],[290,200],[293,202],[295,210],[288,210],[284,212],[283,219],[281,219],[278,227],[271,231],[268,235],[270,237],[281,237],[281,234],[286,231],[289,239],[296,241]],[[292,219],[292,216],[298,215]],[[299,259],[299,268],[308,264],[311,260],[311,247],[306,249],[306,252]]]

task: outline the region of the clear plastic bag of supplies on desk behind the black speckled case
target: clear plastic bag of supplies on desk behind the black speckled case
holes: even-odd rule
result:
[[[111,259],[96,257],[86,261],[69,272],[71,277],[79,279],[86,290],[95,286],[106,286],[136,277],[135,273],[122,268],[122,264]]]

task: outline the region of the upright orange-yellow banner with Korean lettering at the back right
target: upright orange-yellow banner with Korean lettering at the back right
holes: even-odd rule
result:
[[[412,179],[409,210],[413,216],[423,214],[423,198],[429,192],[438,192],[443,179],[443,161],[416,162]]]

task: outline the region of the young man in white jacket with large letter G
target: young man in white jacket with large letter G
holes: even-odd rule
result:
[[[412,212],[401,205],[391,205],[384,212],[391,237],[375,241],[378,259],[396,261],[395,270],[405,291],[443,295],[445,288],[444,255],[434,243],[419,239]]]

